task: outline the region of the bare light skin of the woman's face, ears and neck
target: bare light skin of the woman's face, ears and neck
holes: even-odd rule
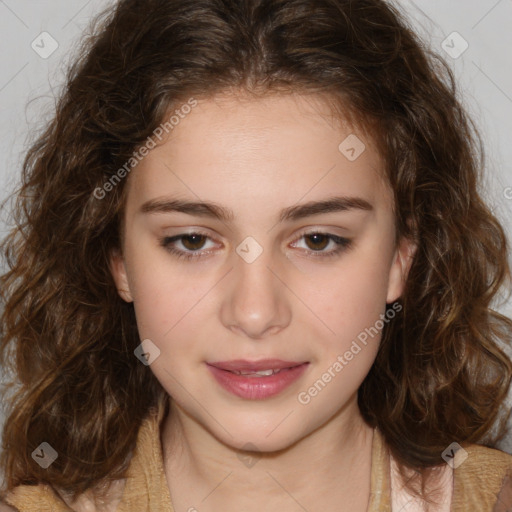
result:
[[[354,133],[366,149],[349,161],[338,146]],[[357,390],[380,334],[307,405],[297,397],[403,291],[414,247],[396,243],[383,175],[372,141],[333,124],[320,97],[232,93],[199,101],[132,171],[123,250],[112,255],[111,269],[120,296],[134,302],[141,340],[160,350],[150,369],[172,397],[161,440],[177,512],[366,510],[373,430]],[[234,218],[140,211],[170,196],[213,201]],[[363,198],[372,210],[278,221],[283,208],[332,196]],[[159,242],[197,229],[210,237],[202,245],[181,239],[173,246],[197,247],[203,257],[178,259]],[[335,243],[304,231],[351,245],[321,257]],[[236,252],[248,236],[263,249],[252,263]],[[206,366],[264,358],[309,366],[264,400],[232,395]],[[248,459],[255,464],[239,457],[247,443],[257,449]]]

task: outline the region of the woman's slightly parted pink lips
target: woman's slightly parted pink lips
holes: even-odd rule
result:
[[[278,395],[295,382],[306,370],[309,363],[263,359],[260,361],[221,361],[207,363],[216,381],[227,391],[248,400],[262,400]],[[275,375],[256,377],[238,375],[233,371],[260,371],[280,369]]]

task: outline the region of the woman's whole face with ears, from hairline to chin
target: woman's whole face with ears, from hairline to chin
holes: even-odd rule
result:
[[[410,265],[378,152],[328,114],[311,96],[199,101],[127,184],[111,268],[149,368],[174,414],[233,447],[358,415]]]

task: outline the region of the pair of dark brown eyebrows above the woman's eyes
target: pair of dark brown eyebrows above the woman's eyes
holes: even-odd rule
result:
[[[373,206],[361,197],[337,196],[323,201],[310,201],[308,203],[289,206],[281,210],[279,222],[295,221],[332,212],[345,212],[349,210],[371,211]],[[228,208],[212,202],[184,201],[180,199],[152,199],[145,202],[141,208],[141,213],[186,213],[198,217],[207,217],[218,219],[224,222],[230,222],[234,219],[234,214]]]

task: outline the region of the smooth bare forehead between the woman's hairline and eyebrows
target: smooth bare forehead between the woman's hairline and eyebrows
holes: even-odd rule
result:
[[[178,193],[268,209],[336,192],[389,206],[372,139],[336,119],[320,97],[223,94],[178,113],[169,137],[130,175],[129,202]]]

